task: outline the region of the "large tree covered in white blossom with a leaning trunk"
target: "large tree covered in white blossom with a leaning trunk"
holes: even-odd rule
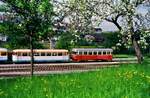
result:
[[[73,30],[85,32],[92,26],[99,26],[102,20],[114,23],[120,30],[125,45],[134,47],[138,62],[141,63],[143,56],[140,44],[147,44],[143,37],[147,34],[143,33],[145,24],[141,25],[143,19],[137,13],[137,7],[148,6],[149,0],[64,0],[61,4],[65,5],[61,6],[61,12],[66,9],[65,13],[68,14],[65,15],[69,17]],[[118,22],[120,17],[121,23]]]

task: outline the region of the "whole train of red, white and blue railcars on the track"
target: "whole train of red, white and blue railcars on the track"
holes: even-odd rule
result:
[[[34,49],[34,62],[82,62],[82,61],[112,61],[113,50],[110,48],[73,48],[66,49]],[[0,48],[0,63],[29,63],[30,49]]]

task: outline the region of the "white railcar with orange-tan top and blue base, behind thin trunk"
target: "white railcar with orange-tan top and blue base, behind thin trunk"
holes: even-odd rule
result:
[[[35,62],[55,62],[69,61],[68,50],[64,49],[34,49],[34,61]],[[30,62],[31,51],[29,49],[17,49],[13,50],[12,60],[13,62]]]

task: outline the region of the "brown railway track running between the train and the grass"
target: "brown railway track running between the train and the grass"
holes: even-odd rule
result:
[[[120,64],[137,63],[136,60],[114,60],[113,62],[44,63],[34,64],[34,74],[88,71],[101,67],[116,67]],[[30,75],[30,64],[0,64],[0,77]]]

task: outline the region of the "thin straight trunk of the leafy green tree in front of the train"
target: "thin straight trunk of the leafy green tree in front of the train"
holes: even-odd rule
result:
[[[32,38],[33,33],[31,32],[30,35],[30,57],[31,57],[31,76],[33,76],[33,67],[34,67],[34,53],[33,53],[33,38]]]

